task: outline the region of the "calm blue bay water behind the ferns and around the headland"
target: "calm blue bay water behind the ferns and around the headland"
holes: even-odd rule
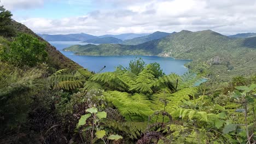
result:
[[[49,43],[55,46],[56,49],[61,51],[66,57],[72,59],[74,62],[90,71],[95,71],[96,73],[104,66],[106,66],[106,68],[101,72],[114,71],[115,67],[118,65],[129,67],[129,62],[132,59],[141,57],[146,64],[154,62],[159,63],[165,74],[176,73],[178,75],[182,75],[188,71],[188,69],[184,67],[184,64],[190,62],[190,60],[158,56],[78,56],[74,55],[74,52],[62,51],[62,49],[71,45],[86,45],[88,43],[80,43],[79,41],[49,41]]]

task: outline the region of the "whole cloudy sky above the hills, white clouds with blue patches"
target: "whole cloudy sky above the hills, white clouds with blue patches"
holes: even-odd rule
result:
[[[36,33],[256,32],[256,0],[1,0]]]

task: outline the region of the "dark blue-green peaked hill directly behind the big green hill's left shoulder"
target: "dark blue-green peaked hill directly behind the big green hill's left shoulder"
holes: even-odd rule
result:
[[[174,34],[173,32],[172,34]],[[163,37],[166,37],[167,35],[170,35],[171,33],[165,33],[165,32],[154,32],[152,34],[146,35],[144,37],[138,37],[133,39],[124,40],[122,44],[124,45],[138,45],[142,43],[146,43],[150,40],[160,39]]]

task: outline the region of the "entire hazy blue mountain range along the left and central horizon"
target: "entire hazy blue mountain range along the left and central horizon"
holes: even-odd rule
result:
[[[101,36],[94,36],[86,33],[77,33],[77,34],[38,34],[46,41],[85,41],[89,39],[96,39],[96,38],[106,38],[106,37],[113,37],[120,40],[126,39],[133,39],[137,37],[143,37],[148,35],[144,34],[136,34],[136,33],[126,33],[126,34],[119,34],[119,35],[101,35]]]

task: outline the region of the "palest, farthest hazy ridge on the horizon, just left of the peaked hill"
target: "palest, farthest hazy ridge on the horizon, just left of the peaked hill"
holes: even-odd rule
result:
[[[118,34],[118,35],[106,34],[106,35],[98,36],[98,38],[114,37],[114,38],[117,38],[117,39],[126,40],[126,39],[133,39],[133,38],[137,38],[137,37],[143,37],[145,35],[149,35],[149,34],[148,33],[142,33],[142,34],[124,33],[124,34]]]

